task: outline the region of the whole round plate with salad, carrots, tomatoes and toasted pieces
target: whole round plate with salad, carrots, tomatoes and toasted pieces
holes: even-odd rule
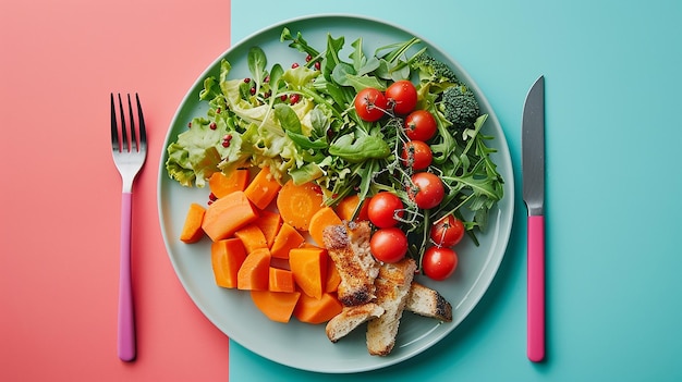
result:
[[[353,372],[423,352],[474,308],[513,177],[491,108],[448,56],[378,21],[306,17],[202,74],[167,137],[159,211],[183,286],[228,336]]]

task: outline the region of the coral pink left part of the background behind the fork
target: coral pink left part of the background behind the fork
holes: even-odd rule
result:
[[[173,272],[156,193],[175,108],[229,42],[230,1],[0,3],[0,380],[228,379],[229,340]],[[133,199],[132,363],[117,357],[111,91],[139,94],[150,149]]]

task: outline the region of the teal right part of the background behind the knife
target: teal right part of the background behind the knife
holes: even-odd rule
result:
[[[496,110],[516,181],[489,291],[436,347],[355,381],[679,381],[682,2],[232,1],[236,42],[308,14],[381,19],[458,60]],[[208,64],[208,63],[207,63]],[[525,356],[521,112],[546,76],[547,360]],[[231,381],[345,381],[230,343]]]

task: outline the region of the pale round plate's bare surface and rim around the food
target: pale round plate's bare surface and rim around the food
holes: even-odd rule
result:
[[[187,123],[193,116],[205,114],[207,107],[198,102],[198,93],[206,76],[217,76],[220,59],[227,58],[232,64],[233,70],[230,73],[232,78],[249,76],[246,54],[253,46],[260,46],[264,49],[268,58],[268,67],[276,62],[287,67],[293,62],[303,61],[303,53],[279,41],[284,26],[293,34],[301,30],[304,38],[319,50],[325,49],[328,33],[333,37],[344,36],[346,47],[350,47],[356,38],[363,37],[367,53],[377,47],[404,41],[415,36],[395,25],[349,15],[296,19],[258,32],[229,49],[198,77],[178,109],[165,147],[187,128]],[[479,236],[480,246],[464,243],[466,239],[458,246],[460,263],[455,274],[446,282],[430,282],[423,276],[418,279],[438,289],[452,304],[453,322],[440,323],[405,312],[395,348],[387,357],[376,357],[367,353],[363,330],[357,330],[332,344],[325,335],[324,324],[310,325],[295,319],[287,324],[268,320],[254,307],[248,293],[216,286],[208,239],[186,245],[178,238],[188,205],[205,204],[208,190],[182,187],[170,180],[165,168],[167,152],[163,149],[159,169],[158,207],[161,232],[175,273],[202,312],[224,334],[245,348],[272,361],[309,371],[345,373],[387,367],[409,359],[446,337],[478,304],[497,273],[511,232],[514,200],[511,158],[504,134],[485,96],[464,70],[447,53],[423,37],[416,37],[424,41],[434,57],[450,63],[455,74],[478,96],[483,112],[489,114],[484,132],[496,137],[491,144],[498,150],[494,159],[506,181],[504,198],[491,211],[488,232]]]

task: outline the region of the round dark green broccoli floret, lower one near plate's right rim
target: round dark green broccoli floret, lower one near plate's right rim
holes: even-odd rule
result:
[[[471,127],[480,115],[480,107],[465,85],[450,86],[443,91],[438,109],[455,127]]]

